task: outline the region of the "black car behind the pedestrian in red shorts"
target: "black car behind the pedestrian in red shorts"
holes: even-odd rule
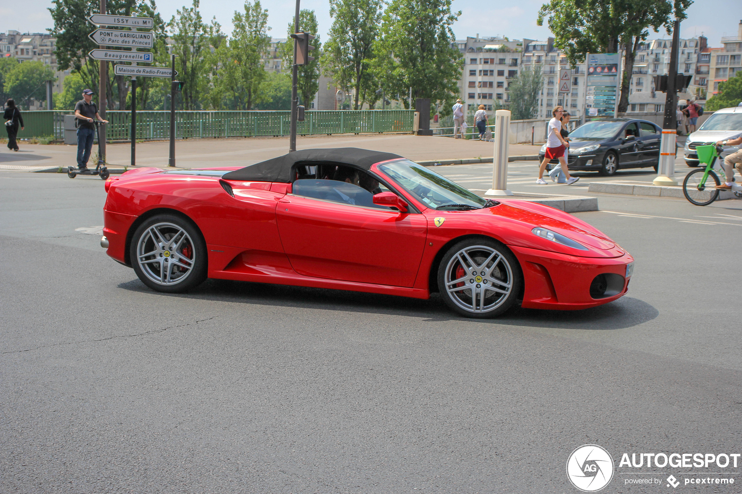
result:
[[[647,120],[601,119],[588,121],[569,134],[569,170],[597,171],[611,176],[619,169],[657,167],[662,129]],[[543,160],[546,144],[539,151]],[[557,164],[559,160],[551,160]],[[550,167],[551,168],[551,167]]]

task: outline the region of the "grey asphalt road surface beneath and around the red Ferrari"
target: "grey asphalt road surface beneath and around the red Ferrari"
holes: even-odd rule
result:
[[[742,491],[742,461],[619,467],[742,453],[740,201],[601,196],[577,216],[637,259],[627,296],[473,321],[437,297],[154,293],[99,247],[104,199],[0,172],[2,493],[577,493],[588,443],[617,467],[602,493]]]

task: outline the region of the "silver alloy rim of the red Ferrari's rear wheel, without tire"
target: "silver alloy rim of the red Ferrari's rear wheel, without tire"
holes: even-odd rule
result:
[[[154,283],[180,283],[191,274],[195,261],[193,241],[177,224],[153,224],[137,241],[139,267]]]

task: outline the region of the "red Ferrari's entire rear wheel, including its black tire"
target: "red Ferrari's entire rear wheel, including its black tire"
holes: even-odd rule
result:
[[[182,238],[181,231],[185,233]],[[160,240],[155,241],[156,236]],[[197,287],[206,280],[209,267],[201,233],[191,221],[171,214],[142,222],[131,238],[129,256],[142,283],[164,293],[181,293]]]

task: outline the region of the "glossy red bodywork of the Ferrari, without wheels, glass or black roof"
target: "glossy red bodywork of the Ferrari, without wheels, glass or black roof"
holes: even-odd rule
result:
[[[378,165],[372,172],[385,177]],[[237,281],[428,298],[431,272],[444,250],[467,236],[487,236],[508,245],[522,267],[522,307],[575,310],[623,296],[627,279],[620,293],[607,298],[591,298],[590,285],[602,273],[623,277],[634,261],[585,221],[526,201],[440,211],[400,189],[421,212],[401,213],[295,196],[292,184],[160,171],[131,170],[106,183],[104,232],[116,261],[128,262],[137,219],[160,210],[188,216],[203,233],[210,278]],[[229,183],[234,197],[220,182]],[[435,218],[444,221],[436,226]],[[588,250],[536,236],[533,227],[554,230]]]

